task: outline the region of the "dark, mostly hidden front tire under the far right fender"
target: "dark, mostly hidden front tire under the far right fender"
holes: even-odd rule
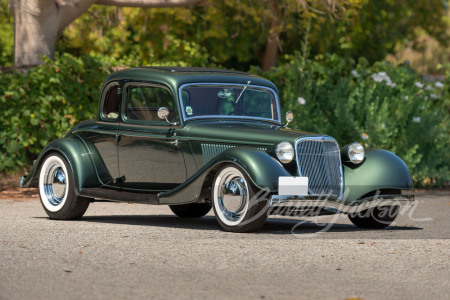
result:
[[[398,215],[400,207],[378,206],[359,213],[348,215],[350,221],[360,228],[381,229],[391,225]]]

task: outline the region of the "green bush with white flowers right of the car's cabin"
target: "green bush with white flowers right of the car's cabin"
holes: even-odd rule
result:
[[[336,55],[300,54],[265,73],[280,89],[293,128],[328,134],[341,145],[390,150],[410,169],[417,187],[449,178],[450,66],[446,82],[423,82],[406,66],[358,63]],[[441,66],[442,67],[442,66]],[[442,67],[443,68],[443,67]]]

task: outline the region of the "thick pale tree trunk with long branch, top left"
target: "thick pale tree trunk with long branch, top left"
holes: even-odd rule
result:
[[[16,67],[42,63],[53,57],[63,30],[93,4],[127,7],[187,6],[201,0],[10,0],[14,17],[14,64]]]

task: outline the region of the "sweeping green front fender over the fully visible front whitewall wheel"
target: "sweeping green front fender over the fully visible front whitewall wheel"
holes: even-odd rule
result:
[[[278,177],[291,176],[283,165],[269,154],[254,148],[231,148],[210,160],[185,183],[159,194],[160,204],[183,204],[196,201],[211,170],[231,163],[239,166],[259,189],[278,191]]]

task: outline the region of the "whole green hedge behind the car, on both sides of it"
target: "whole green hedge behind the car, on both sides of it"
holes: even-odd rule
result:
[[[369,66],[335,55],[287,60],[270,71],[251,72],[278,86],[283,110],[295,113],[291,127],[328,134],[341,145],[359,141],[393,151],[416,186],[449,180],[450,66],[441,87],[405,66]],[[65,54],[27,76],[0,74],[0,173],[29,167],[51,140],[93,118],[105,77],[115,66],[134,64]]]

